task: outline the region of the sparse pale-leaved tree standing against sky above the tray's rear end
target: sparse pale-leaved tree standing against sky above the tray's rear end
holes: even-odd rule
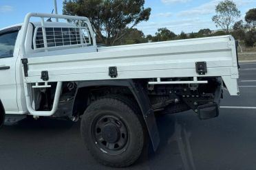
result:
[[[215,12],[216,15],[212,18],[213,22],[216,27],[220,26],[222,29],[226,29],[226,33],[228,33],[229,27],[235,23],[235,19],[241,16],[235,3],[230,0],[224,0],[217,4]]]

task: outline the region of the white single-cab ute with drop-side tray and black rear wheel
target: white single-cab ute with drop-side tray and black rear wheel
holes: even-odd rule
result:
[[[0,29],[0,123],[5,114],[81,118],[94,158],[126,167],[147,138],[157,149],[155,114],[209,119],[223,88],[239,95],[232,36],[97,47],[94,35],[87,18],[56,14]]]

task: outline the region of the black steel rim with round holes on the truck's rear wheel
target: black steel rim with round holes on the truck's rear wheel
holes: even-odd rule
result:
[[[124,121],[114,114],[105,114],[94,119],[92,138],[105,154],[121,154],[129,144],[129,133]]]

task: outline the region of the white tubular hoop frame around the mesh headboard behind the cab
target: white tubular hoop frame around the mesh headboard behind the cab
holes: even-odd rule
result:
[[[25,16],[24,22],[23,22],[23,32],[22,32],[22,37],[21,37],[21,58],[25,58],[25,38],[28,34],[28,25],[30,23],[30,19],[32,17],[37,17],[37,18],[41,18],[41,26],[44,26],[45,23],[45,18],[55,18],[55,19],[67,19],[67,20],[75,20],[78,21],[78,23],[81,23],[81,21],[83,21],[84,23],[87,24],[89,32],[90,32],[90,36],[92,38],[92,45],[96,46],[96,38],[94,36],[94,31],[92,29],[92,25],[89,22],[89,19],[87,19],[87,17],[83,17],[83,16],[68,16],[68,15],[58,15],[58,14],[41,14],[41,13],[28,13]],[[45,29],[43,28],[43,36],[45,37]],[[45,40],[45,38],[44,38]],[[45,47],[47,47],[47,43],[45,45]]]

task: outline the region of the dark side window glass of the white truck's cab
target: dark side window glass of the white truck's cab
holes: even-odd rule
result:
[[[19,31],[0,34],[0,58],[10,58],[13,56],[18,33]]]

